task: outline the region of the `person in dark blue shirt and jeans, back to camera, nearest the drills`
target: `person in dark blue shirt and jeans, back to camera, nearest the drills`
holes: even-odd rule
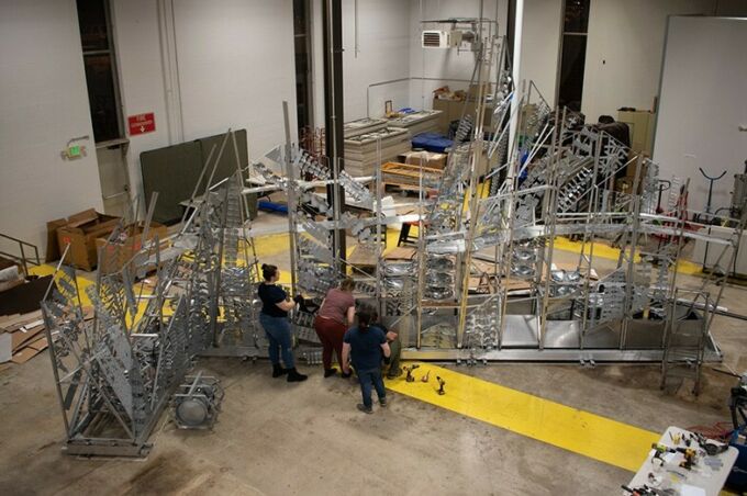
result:
[[[372,414],[371,386],[376,388],[379,396],[379,405],[387,406],[387,391],[383,388],[381,377],[381,353],[384,357],[391,354],[387,336],[380,327],[371,325],[374,312],[364,306],[356,313],[358,325],[350,327],[343,338],[343,372],[350,373],[350,363],[355,368],[358,381],[360,382],[360,393],[364,403],[356,407],[366,414]]]

